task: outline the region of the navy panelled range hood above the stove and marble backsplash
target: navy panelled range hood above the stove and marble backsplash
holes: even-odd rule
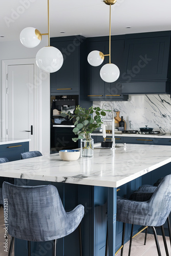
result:
[[[125,35],[122,93],[170,93],[170,31]]]

